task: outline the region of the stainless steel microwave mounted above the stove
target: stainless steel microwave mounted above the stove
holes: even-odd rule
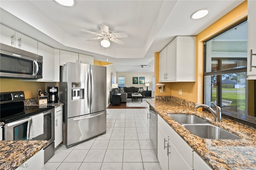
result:
[[[0,76],[28,79],[42,78],[42,60],[0,50]]]

